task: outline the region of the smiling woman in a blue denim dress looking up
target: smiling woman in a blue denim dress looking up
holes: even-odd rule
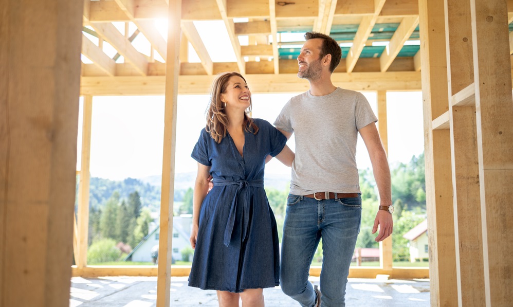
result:
[[[192,157],[198,161],[189,285],[217,290],[219,306],[264,306],[263,288],[279,284],[278,231],[264,191],[266,156],[291,166],[286,137],[251,119],[251,92],[239,73],[212,86],[207,126]],[[209,176],[214,186],[208,192]],[[208,192],[208,194],[207,194]]]

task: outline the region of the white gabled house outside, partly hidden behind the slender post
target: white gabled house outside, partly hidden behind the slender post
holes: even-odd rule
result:
[[[180,216],[173,216],[173,246],[172,256],[174,260],[182,260],[181,250],[187,246],[191,246],[189,238],[192,229],[192,215],[181,214]],[[160,234],[160,227],[152,227],[148,236],[144,237],[139,244],[126,256],[126,261],[135,262],[153,262],[155,259],[152,257],[152,249],[158,247],[158,239]],[[154,248],[155,247],[155,248]]]

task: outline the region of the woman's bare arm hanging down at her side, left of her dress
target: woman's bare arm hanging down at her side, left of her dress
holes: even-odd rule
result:
[[[196,176],[192,198],[192,231],[191,238],[189,239],[189,241],[191,241],[192,248],[196,248],[196,238],[198,236],[199,228],[199,210],[201,209],[201,203],[203,203],[203,200],[209,190],[209,176],[210,166],[206,166],[198,162],[198,174]]]

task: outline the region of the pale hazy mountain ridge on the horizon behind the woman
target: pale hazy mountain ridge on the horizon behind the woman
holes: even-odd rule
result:
[[[154,175],[139,178],[141,182],[145,184],[149,184],[152,186],[160,187],[162,183],[161,175]],[[196,180],[196,172],[188,172],[188,173],[176,173],[175,174],[175,190],[187,190],[189,188],[194,188],[194,182]],[[280,174],[266,174],[264,177],[264,185],[266,187],[271,187],[277,189],[279,191],[284,191],[288,189],[290,184],[290,175],[280,175]]]

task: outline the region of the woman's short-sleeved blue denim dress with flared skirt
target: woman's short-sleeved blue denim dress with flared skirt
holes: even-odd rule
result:
[[[203,129],[192,157],[210,166],[214,187],[201,204],[189,285],[240,293],[279,285],[276,220],[264,190],[267,155],[279,154],[286,137],[269,122],[253,119],[243,156],[229,134],[216,143]]]

